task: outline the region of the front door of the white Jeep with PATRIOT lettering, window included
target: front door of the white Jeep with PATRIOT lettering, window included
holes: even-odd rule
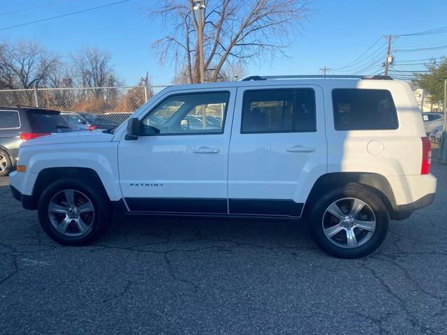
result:
[[[142,115],[157,135],[119,144],[130,211],[228,214],[228,147],[235,89],[177,91]]]

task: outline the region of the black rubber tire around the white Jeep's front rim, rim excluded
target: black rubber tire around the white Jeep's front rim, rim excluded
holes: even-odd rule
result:
[[[47,210],[50,200],[55,194],[66,189],[73,189],[84,193],[89,200],[91,200],[94,207],[95,216],[92,223],[94,226],[87,234],[81,237],[68,237],[61,234],[54,228],[48,217]],[[104,193],[102,186],[96,182],[89,181],[89,184],[87,184],[85,181],[76,179],[61,179],[59,181],[54,181],[54,183],[43,191],[38,202],[38,217],[43,230],[45,230],[48,236],[54,239],[54,241],[57,241],[60,244],[85,245],[94,241],[103,234],[110,223],[110,204],[108,195]]]

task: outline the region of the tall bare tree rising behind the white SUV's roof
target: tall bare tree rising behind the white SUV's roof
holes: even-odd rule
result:
[[[285,54],[300,34],[301,24],[312,13],[312,0],[203,0],[203,50],[205,77],[216,82],[228,64],[247,61],[266,53]],[[147,9],[149,17],[162,17],[169,34],[153,47],[159,60],[175,61],[176,80],[199,82],[198,17],[193,0],[159,0]],[[153,9],[155,8],[155,9]],[[239,65],[240,66],[240,65]]]

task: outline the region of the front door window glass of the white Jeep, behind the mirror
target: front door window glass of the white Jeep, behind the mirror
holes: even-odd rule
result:
[[[160,135],[223,133],[229,92],[170,96],[143,119]]]

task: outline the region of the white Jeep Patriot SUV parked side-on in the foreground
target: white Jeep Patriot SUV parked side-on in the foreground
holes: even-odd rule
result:
[[[168,87],[115,131],[24,142],[10,188],[61,244],[93,241],[115,209],[305,218],[324,251],[358,258],[433,201],[430,156],[406,82],[256,76]]]

